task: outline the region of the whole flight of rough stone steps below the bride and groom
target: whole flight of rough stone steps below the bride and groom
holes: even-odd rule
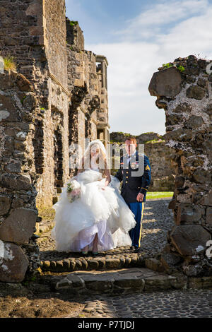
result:
[[[66,253],[55,250],[50,233],[54,223],[45,220],[41,223],[40,268],[41,279],[49,280],[51,288],[57,292],[70,294],[110,294],[118,295],[130,292],[151,292],[187,288],[212,289],[212,277],[187,277],[174,269],[170,271],[160,254],[131,251],[129,247],[91,253]]]

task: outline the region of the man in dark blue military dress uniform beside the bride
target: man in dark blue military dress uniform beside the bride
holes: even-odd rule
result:
[[[146,155],[136,151],[136,138],[128,136],[124,142],[126,154],[120,158],[120,168],[115,177],[122,183],[121,195],[135,215],[136,226],[129,231],[132,247],[140,251],[144,202],[151,182],[151,165]]]

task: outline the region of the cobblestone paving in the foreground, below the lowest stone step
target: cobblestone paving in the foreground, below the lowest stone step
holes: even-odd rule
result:
[[[96,296],[86,302],[86,317],[212,317],[212,290],[170,290],[116,297]]]

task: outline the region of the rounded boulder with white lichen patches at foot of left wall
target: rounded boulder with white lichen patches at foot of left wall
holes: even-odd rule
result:
[[[28,259],[20,247],[0,240],[1,282],[20,283],[25,278],[28,264]]]

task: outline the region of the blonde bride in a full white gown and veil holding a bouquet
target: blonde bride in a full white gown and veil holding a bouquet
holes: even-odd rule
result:
[[[83,255],[92,251],[97,255],[98,251],[130,246],[129,230],[136,220],[119,194],[119,180],[110,176],[107,153],[100,140],[89,143],[81,165],[53,206],[55,225],[51,235],[57,251],[81,251]]]

